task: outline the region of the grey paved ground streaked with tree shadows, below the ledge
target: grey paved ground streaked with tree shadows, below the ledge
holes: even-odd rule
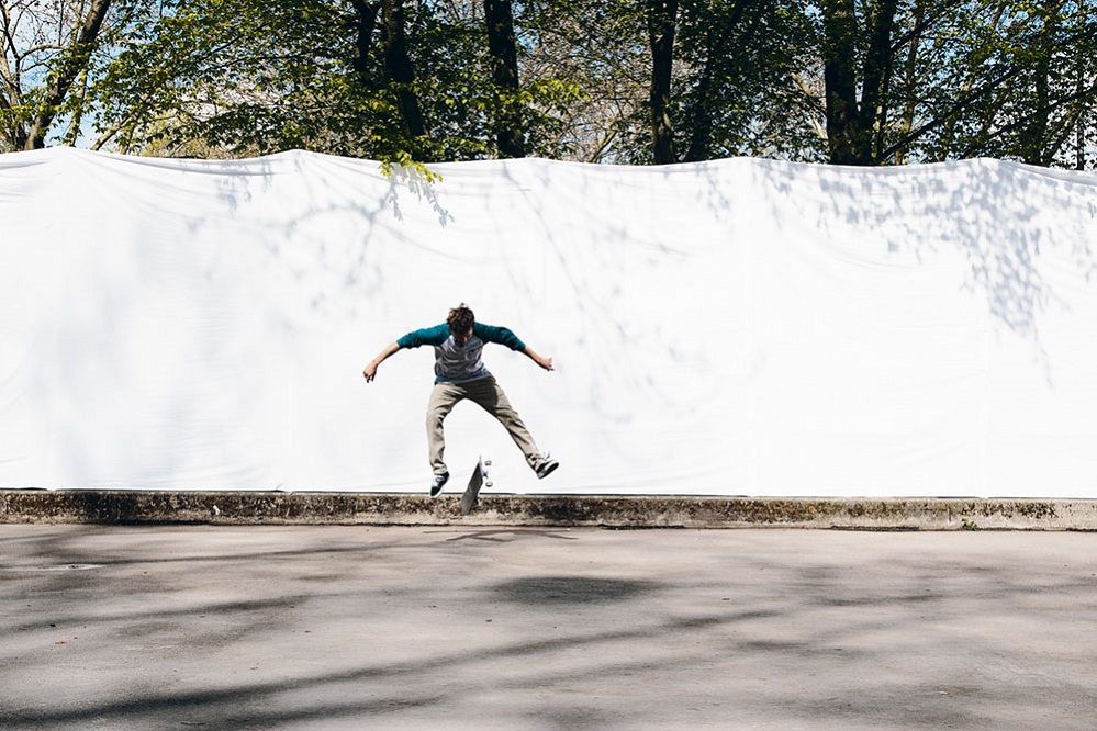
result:
[[[1097,536],[0,526],[2,729],[1093,729]]]

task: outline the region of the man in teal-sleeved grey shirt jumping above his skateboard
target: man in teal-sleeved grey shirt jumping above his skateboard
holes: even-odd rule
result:
[[[369,383],[377,376],[378,366],[401,348],[434,346],[434,391],[430,392],[426,421],[430,469],[434,470],[430,497],[441,493],[443,486],[449,480],[449,470],[443,459],[446,451],[443,421],[454,406],[464,398],[472,400],[499,419],[538,477],[547,477],[560,466],[555,459],[538,451],[534,438],[517,412],[511,407],[503,389],[484,368],[481,352],[489,342],[496,342],[525,353],[546,371],[552,370],[551,358],[537,355],[505,327],[493,327],[475,322],[475,315],[462,302],[460,306],[449,311],[445,324],[408,333],[378,353],[378,357],[362,371],[366,382]]]

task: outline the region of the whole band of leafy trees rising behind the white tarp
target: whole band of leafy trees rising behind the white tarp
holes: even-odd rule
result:
[[[652,161],[650,0],[514,3],[516,86],[493,77],[511,61],[491,52],[481,3],[87,0],[78,13],[0,0],[0,150],[303,148],[407,166],[495,157],[502,140],[510,154]],[[1095,11],[1097,0],[679,0],[663,19],[664,155],[835,160],[841,143],[871,165],[1092,168]]]

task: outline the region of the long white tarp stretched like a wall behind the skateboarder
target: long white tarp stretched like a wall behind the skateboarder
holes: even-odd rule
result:
[[[459,490],[1097,497],[1097,179],[995,160],[432,166],[0,156],[0,487],[414,491],[469,303],[544,482],[471,404]]]

